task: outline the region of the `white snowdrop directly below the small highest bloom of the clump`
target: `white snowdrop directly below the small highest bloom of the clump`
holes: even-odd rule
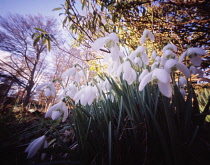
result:
[[[141,67],[142,62],[145,65],[149,64],[149,58],[146,54],[146,48],[144,46],[139,46],[136,50],[134,50],[128,58],[135,64],[139,64]]]

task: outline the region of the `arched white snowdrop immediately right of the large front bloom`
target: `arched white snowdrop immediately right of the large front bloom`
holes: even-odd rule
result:
[[[171,71],[175,71],[177,69],[179,69],[187,78],[190,78],[190,71],[189,69],[182,63],[174,60],[174,59],[170,59],[168,61],[166,61],[165,65],[164,65],[164,69],[171,73]]]

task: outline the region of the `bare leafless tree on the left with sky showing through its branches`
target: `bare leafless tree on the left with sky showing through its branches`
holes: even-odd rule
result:
[[[7,61],[4,56],[0,60],[0,70],[23,88],[24,105],[27,105],[34,85],[41,80],[47,66],[46,45],[43,41],[33,45],[34,28],[56,34],[56,20],[41,15],[8,14],[0,17],[0,27],[0,50],[9,53]]]

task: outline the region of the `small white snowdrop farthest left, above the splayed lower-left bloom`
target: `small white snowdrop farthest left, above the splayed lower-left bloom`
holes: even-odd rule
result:
[[[41,90],[43,87],[45,87],[44,94],[46,97],[56,95],[56,89],[53,82],[41,84],[36,88],[36,90]]]

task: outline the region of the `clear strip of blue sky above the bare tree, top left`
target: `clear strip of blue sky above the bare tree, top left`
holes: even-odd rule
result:
[[[0,0],[0,15],[4,16],[8,12],[19,14],[42,14],[59,18],[60,11],[52,9],[61,7],[65,0]]]

